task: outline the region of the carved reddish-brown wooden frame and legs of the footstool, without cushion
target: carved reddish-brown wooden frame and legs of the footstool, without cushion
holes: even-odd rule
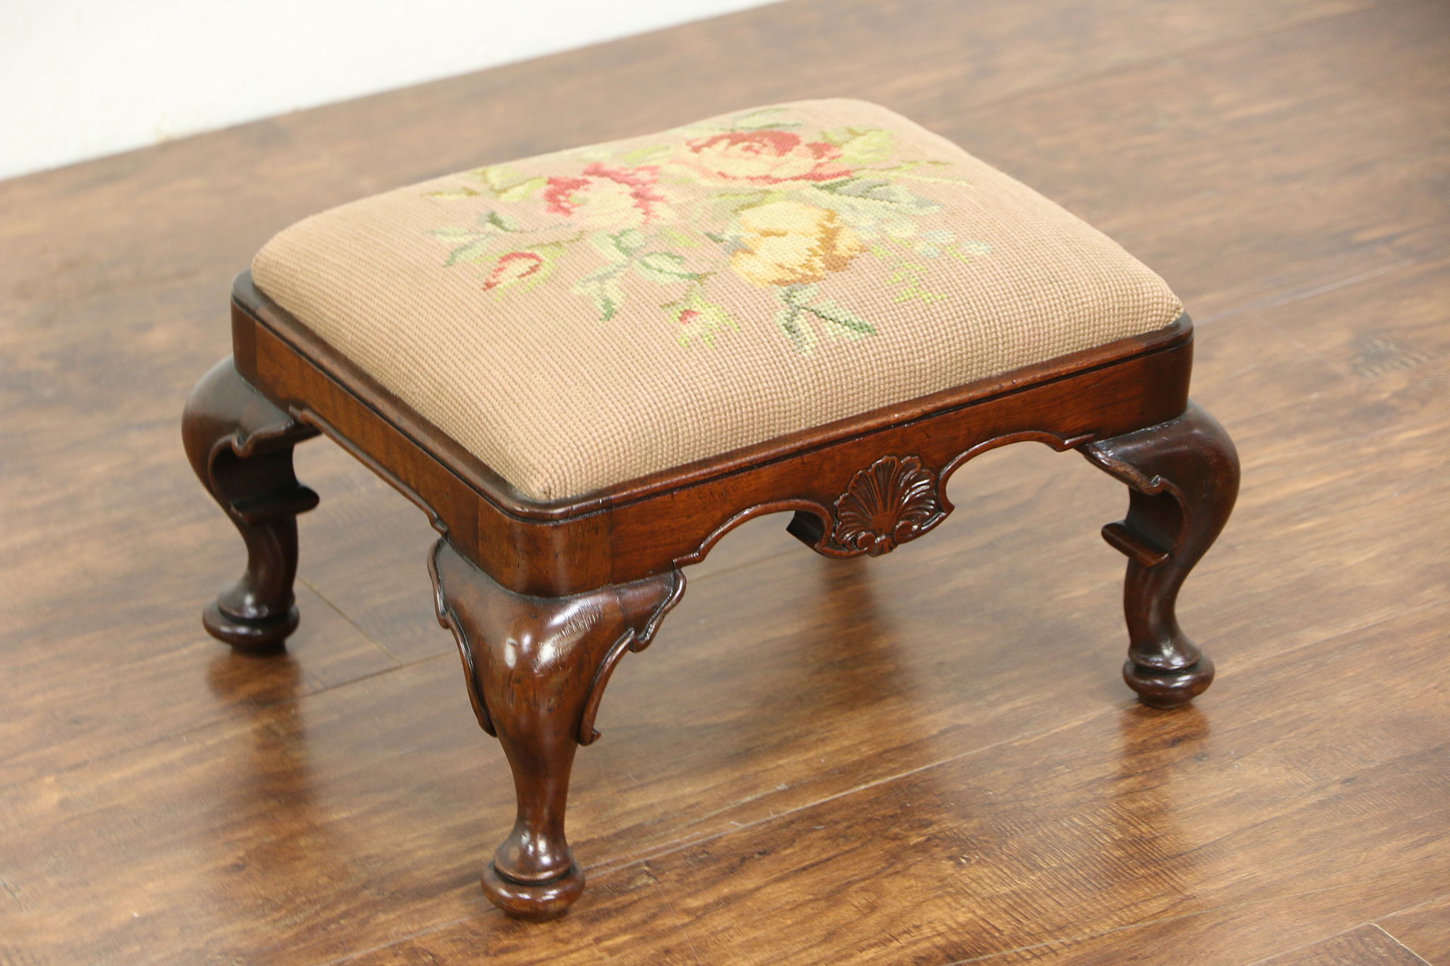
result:
[[[478,724],[513,770],[518,820],[484,873],[505,911],[542,918],[583,889],[564,836],[574,747],[615,665],[641,650],[696,563],[731,529],[789,510],[789,532],[828,556],[879,555],[951,513],[945,482],[1005,443],[1077,449],[1131,491],[1103,536],[1128,556],[1127,682],[1177,707],[1212,663],[1177,626],[1177,591],[1232,510],[1238,462],[1188,400],[1188,317],[899,406],[600,490],[541,503],[444,436],[242,274],[233,355],[193,392],[193,468],[241,530],[248,569],[204,624],[239,647],[277,649],[296,627],[296,514],[316,494],[291,448],[326,434],[407,495],[442,534],[429,559]]]

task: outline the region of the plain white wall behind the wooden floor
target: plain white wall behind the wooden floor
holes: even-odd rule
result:
[[[0,178],[770,0],[0,0]]]

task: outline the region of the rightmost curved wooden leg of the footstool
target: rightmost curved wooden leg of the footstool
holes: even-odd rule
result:
[[[1189,571],[1234,508],[1234,443],[1212,416],[1190,403],[1174,420],[1080,449],[1131,488],[1128,516],[1102,532],[1128,556],[1124,678],[1144,704],[1188,704],[1214,681],[1214,663],[1182,631],[1174,605]]]

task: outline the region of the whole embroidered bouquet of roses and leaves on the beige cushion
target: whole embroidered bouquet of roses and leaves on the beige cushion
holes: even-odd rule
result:
[[[493,297],[515,298],[576,265],[568,291],[593,303],[600,322],[639,298],[638,281],[626,288],[626,280],[660,285],[668,295],[655,304],[682,346],[715,346],[741,327],[722,304],[734,278],[779,300],[776,327],[802,355],[821,336],[877,335],[879,322],[841,304],[848,288],[832,297],[834,280],[863,261],[883,264],[877,284],[893,301],[941,303],[948,295],[931,288],[932,265],[951,259],[964,271],[990,253],[932,224],[942,206],[911,187],[966,184],[942,174],[948,162],[900,159],[884,129],[808,130],[786,113],[679,129],[668,143],[567,151],[536,159],[552,169],[532,175],[480,168],[428,193],[486,206],[474,207],[474,224],[429,233],[452,245],[444,266],[480,266]]]

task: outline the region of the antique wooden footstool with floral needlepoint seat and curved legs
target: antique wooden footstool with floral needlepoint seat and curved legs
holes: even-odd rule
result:
[[[940,524],[977,453],[1034,440],[1125,482],[1124,678],[1188,704],[1214,665],[1174,600],[1238,490],[1188,398],[1192,327],[1106,236],[876,104],[811,100],[487,165],[283,230],[232,293],[191,465],[246,542],[204,613],[248,650],[297,626],[293,445],[329,436],[442,534],[438,618],[518,820],[509,914],[584,885],[574,749],[682,568],[766,513],[826,556]],[[1024,620],[1031,616],[1024,614]]]

